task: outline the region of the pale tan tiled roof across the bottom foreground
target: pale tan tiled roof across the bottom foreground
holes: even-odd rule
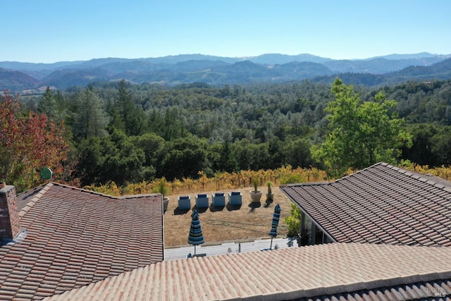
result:
[[[450,285],[450,247],[330,243],[169,260],[48,300],[393,300]]]

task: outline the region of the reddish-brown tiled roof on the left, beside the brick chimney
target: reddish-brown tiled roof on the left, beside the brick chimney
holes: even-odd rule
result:
[[[39,299],[163,260],[161,195],[49,183],[17,199],[26,237],[0,246],[0,300]]]

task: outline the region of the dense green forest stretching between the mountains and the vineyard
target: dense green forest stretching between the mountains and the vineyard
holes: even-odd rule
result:
[[[373,116],[373,111],[396,121],[397,130],[404,131],[404,137],[409,139],[399,145],[390,142],[396,144],[399,153],[374,153],[361,164],[381,158],[392,159],[390,163],[409,160],[428,166],[451,164],[451,81],[405,82],[373,89],[346,86],[336,80],[332,87],[310,80],[221,87],[200,82],[175,87],[133,85],[121,80],[64,91],[48,88],[40,96],[5,92],[2,106],[6,107],[6,101],[9,106],[16,101],[20,108],[11,111],[10,116],[4,113],[1,126],[3,131],[5,123],[10,122],[11,126],[11,118],[16,118],[20,128],[20,121],[27,124],[32,116],[45,116],[40,128],[47,133],[53,130],[48,134],[54,136],[53,140],[49,138],[53,146],[42,146],[39,152],[49,152],[46,155],[54,160],[30,161],[33,166],[28,169],[36,173],[42,167],[39,164],[45,164],[54,169],[58,180],[77,185],[198,178],[199,174],[214,176],[288,165],[328,169],[331,166],[321,159],[319,146],[331,135],[340,135],[334,131],[344,131],[337,130],[340,122],[351,124],[357,118],[357,123],[368,122],[365,127],[382,124],[385,119]],[[351,116],[344,111],[342,115],[348,121],[330,118],[330,114],[338,112],[331,104],[335,101],[335,106],[343,105],[339,104],[340,97],[353,99],[349,105],[361,107],[360,115]],[[371,115],[376,123],[364,121],[362,114]],[[330,128],[333,124],[338,124],[335,129]],[[374,131],[362,133],[364,145],[371,145],[369,140],[378,142]],[[348,138],[342,135],[342,139]],[[3,158],[23,161],[23,155],[13,154],[13,146],[6,143],[8,139],[6,135],[0,137],[4,142],[0,149]],[[363,156],[350,149],[352,144],[346,144],[344,152]],[[23,149],[16,147],[17,152]],[[354,144],[354,148],[361,147]],[[35,185],[25,180],[24,166],[5,166],[0,170],[0,180],[23,183],[22,188]]]

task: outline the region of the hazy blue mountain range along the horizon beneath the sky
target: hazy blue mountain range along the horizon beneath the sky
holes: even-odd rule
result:
[[[178,85],[252,82],[288,82],[340,77],[354,85],[387,85],[405,80],[451,79],[451,54],[390,54],[369,59],[334,60],[299,54],[262,54],[230,58],[181,54],[147,59],[92,59],[57,63],[0,62],[0,89],[36,91],[42,87],[66,89],[89,82],[130,80]]]

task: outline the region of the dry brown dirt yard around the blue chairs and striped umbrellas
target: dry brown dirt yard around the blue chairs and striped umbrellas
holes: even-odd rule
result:
[[[191,209],[179,210],[178,195],[169,195],[168,209],[164,214],[165,247],[187,245],[192,209],[196,209],[196,193],[208,193],[209,195],[210,207],[197,210],[204,235],[204,245],[214,245],[224,241],[244,242],[259,238],[269,238],[268,232],[271,230],[276,204],[280,204],[282,209],[278,226],[278,238],[285,237],[287,231],[283,219],[290,214],[290,199],[277,186],[273,186],[274,200],[271,203],[266,202],[267,189],[261,187],[259,188],[263,192],[261,203],[255,204],[251,202],[249,195],[251,190],[252,188],[240,189],[242,192],[242,205],[240,207],[230,207],[228,205],[227,190],[221,191],[225,192],[226,195],[226,207],[211,206],[211,191],[190,192],[183,195],[190,195]]]

